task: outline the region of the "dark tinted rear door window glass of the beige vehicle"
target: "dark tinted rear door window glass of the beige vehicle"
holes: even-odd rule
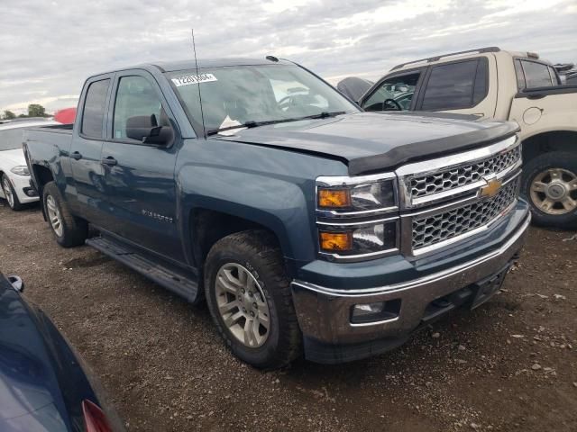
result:
[[[426,83],[422,110],[472,108],[487,95],[486,58],[434,66]]]

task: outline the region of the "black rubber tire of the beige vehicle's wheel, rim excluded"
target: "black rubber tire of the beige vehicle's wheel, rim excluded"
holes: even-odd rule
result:
[[[523,167],[523,182],[521,184],[521,194],[527,199],[531,206],[533,221],[536,225],[545,227],[555,227],[572,229],[577,227],[577,208],[564,214],[550,214],[539,207],[538,197],[545,196],[542,193],[531,193],[531,186],[539,179],[542,173],[549,169],[559,168],[564,173],[572,173],[577,178],[577,155],[569,152],[554,151],[545,153],[529,160]],[[563,174],[566,175],[566,174]],[[547,177],[545,177],[547,178]],[[565,176],[563,181],[568,181],[570,176]],[[536,196],[536,200],[533,198]],[[570,196],[573,201],[577,201],[577,190],[571,191]],[[561,204],[555,204],[559,208]],[[562,210],[563,211],[563,210]]]

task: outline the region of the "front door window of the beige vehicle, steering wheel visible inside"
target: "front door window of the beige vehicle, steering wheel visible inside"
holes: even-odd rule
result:
[[[391,76],[371,94],[362,107],[366,111],[408,110],[415,94],[420,72],[403,76]]]

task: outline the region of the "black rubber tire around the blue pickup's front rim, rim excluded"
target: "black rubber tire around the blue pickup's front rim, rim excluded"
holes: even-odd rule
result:
[[[270,311],[269,336],[261,347],[247,347],[234,337],[218,311],[216,275],[229,263],[239,264],[261,286]],[[205,265],[205,293],[216,328],[228,347],[249,365],[276,369],[301,355],[302,335],[276,239],[264,230],[248,230],[222,238],[210,249]]]

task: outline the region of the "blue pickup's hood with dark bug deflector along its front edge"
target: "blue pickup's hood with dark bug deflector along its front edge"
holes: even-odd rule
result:
[[[350,175],[481,147],[505,139],[516,123],[430,112],[358,112],[234,130],[218,139],[319,154],[343,160]]]

